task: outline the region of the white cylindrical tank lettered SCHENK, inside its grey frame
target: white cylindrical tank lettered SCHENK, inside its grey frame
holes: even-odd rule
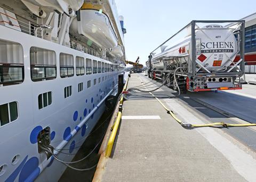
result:
[[[218,24],[210,24],[197,29],[196,35],[196,62],[197,70],[201,66],[209,71],[223,71],[234,61],[237,54],[237,41],[233,32]],[[153,69],[164,70],[163,61],[175,62],[177,65],[188,64],[191,60],[191,36],[179,43],[167,46],[162,52],[152,57]],[[231,61],[230,61],[231,60]]]

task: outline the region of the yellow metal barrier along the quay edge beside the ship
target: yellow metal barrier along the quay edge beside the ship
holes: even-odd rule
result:
[[[125,82],[125,85],[124,85],[124,88],[123,88],[123,92],[126,91],[126,88],[127,88],[127,85],[128,85],[128,81],[129,81],[129,77],[127,78],[127,80]],[[124,97],[122,95],[120,100],[119,100],[119,111],[117,113],[117,118],[116,118],[116,121],[114,123],[112,133],[111,133],[111,135],[109,137],[108,145],[107,145],[106,152],[105,152],[105,156],[107,156],[107,157],[109,157],[111,155],[112,148],[113,148],[113,145],[114,145],[114,142],[115,142],[115,139],[116,139],[117,130],[119,128],[119,123],[120,123],[121,118],[122,118],[123,102],[124,102]]]

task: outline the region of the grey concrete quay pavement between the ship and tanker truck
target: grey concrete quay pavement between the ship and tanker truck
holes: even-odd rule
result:
[[[148,81],[143,73],[134,73],[127,87]],[[159,99],[179,119],[191,124],[256,122],[255,98],[251,90],[246,91],[249,88],[245,89],[247,94],[188,93]],[[172,92],[162,87],[153,94]],[[133,98],[123,104],[111,156],[100,160],[94,181],[255,181],[255,129],[186,129],[155,98]]]

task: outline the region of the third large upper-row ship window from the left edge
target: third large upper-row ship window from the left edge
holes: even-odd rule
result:
[[[74,76],[74,57],[71,54],[60,53],[60,77]]]

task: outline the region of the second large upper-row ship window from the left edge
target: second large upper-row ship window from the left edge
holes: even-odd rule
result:
[[[43,81],[56,78],[56,55],[54,51],[30,48],[31,80]]]

